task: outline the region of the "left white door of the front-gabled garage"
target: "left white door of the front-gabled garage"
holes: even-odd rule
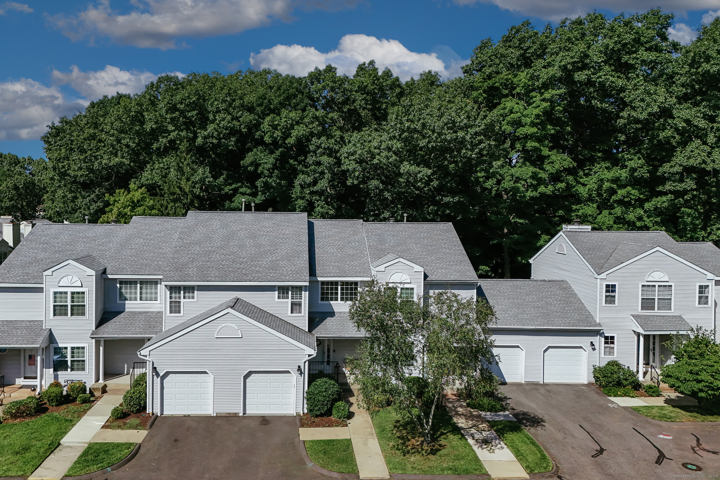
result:
[[[204,371],[176,371],[163,377],[163,415],[212,414],[212,377]]]

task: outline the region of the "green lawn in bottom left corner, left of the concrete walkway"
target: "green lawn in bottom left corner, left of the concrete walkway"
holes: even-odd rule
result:
[[[60,445],[77,422],[57,413],[0,425],[0,477],[27,476]]]

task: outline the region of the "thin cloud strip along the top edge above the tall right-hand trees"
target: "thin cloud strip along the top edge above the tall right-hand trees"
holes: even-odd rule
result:
[[[612,12],[633,14],[657,7],[657,0],[454,0],[459,5],[475,4],[479,1],[485,4],[495,4],[504,10],[556,22],[564,17],[585,15],[592,12],[593,9],[608,9]],[[666,0],[662,2],[662,9],[666,12],[713,9],[719,6],[720,0]]]

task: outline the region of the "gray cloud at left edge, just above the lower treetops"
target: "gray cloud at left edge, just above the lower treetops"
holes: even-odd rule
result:
[[[0,82],[0,140],[37,140],[47,124],[87,103],[67,99],[58,87],[30,78]]]

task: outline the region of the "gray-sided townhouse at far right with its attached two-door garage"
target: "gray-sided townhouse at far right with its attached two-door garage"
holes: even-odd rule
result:
[[[663,343],[672,334],[716,328],[720,249],[712,243],[577,222],[564,225],[531,263],[534,280],[524,284],[481,281],[500,318],[495,344],[503,346],[508,381],[554,381],[559,372],[564,381],[589,381],[593,364],[613,359],[642,379],[670,361]],[[580,371],[584,379],[572,374]]]

